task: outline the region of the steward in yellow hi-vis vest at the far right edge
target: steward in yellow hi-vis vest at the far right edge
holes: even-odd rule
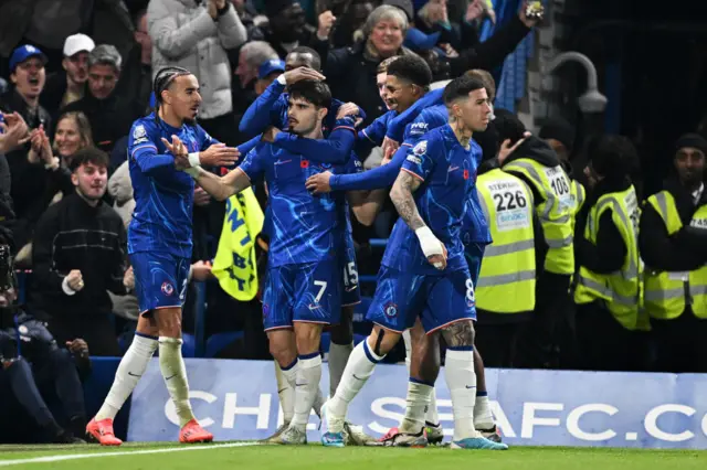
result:
[[[707,141],[680,137],[675,173],[647,199],[641,215],[645,309],[657,346],[657,368],[707,372]]]

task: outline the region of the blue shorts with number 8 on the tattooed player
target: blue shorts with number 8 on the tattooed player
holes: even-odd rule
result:
[[[403,332],[418,317],[428,333],[461,320],[476,320],[474,285],[467,269],[440,276],[381,266],[366,320]]]

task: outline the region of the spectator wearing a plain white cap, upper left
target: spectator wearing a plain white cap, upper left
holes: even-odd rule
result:
[[[40,103],[56,117],[59,110],[83,98],[88,79],[88,54],[96,45],[85,34],[74,34],[64,41],[63,72],[55,72],[46,79]]]

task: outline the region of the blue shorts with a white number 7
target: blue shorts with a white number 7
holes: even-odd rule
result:
[[[293,322],[335,324],[341,317],[341,275],[336,259],[267,270],[263,292],[265,331]]]

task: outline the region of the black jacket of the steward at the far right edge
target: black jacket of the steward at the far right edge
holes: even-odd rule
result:
[[[692,271],[700,268],[707,264],[707,229],[689,226],[698,205],[677,179],[666,181],[664,188],[675,199],[683,228],[668,235],[661,215],[651,204],[644,204],[639,227],[641,257],[646,269]],[[699,205],[704,204],[707,204],[707,191],[703,192],[699,201]]]

